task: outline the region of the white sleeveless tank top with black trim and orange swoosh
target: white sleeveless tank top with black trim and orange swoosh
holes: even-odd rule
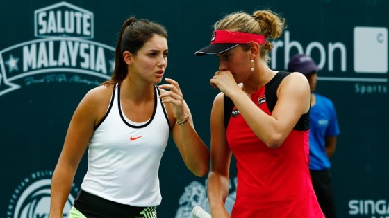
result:
[[[158,170],[169,139],[169,119],[154,91],[150,120],[135,123],[120,106],[120,86],[113,91],[106,116],[88,149],[88,172],[81,189],[131,206],[158,206],[162,199]]]

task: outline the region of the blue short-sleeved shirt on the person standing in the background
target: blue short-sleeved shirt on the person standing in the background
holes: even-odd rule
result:
[[[309,132],[309,169],[326,170],[331,163],[326,154],[326,137],[338,136],[340,129],[336,110],[329,98],[315,94],[316,104],[311,107]]]

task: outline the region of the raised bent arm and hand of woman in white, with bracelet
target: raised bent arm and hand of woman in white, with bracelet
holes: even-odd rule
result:
[[[179,84],[171,79],[166,79],[166,81],[170,84],[160,85],[160,88],[170,89],[170,91],[162,90],[160,98],[163,98],[168,113],[173,114],[174,121],[183,122],[188,118],[188,122],[183,123],[183,125],[174,122],[172,128],[174,143],[188,169],[196,176],[204,176],[208,172],[209,149],[195,130],[192,114],[183,100]]]

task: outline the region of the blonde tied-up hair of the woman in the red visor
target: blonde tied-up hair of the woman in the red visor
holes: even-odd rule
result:
[[[230,30],[243,33],[254,33],[265,36],[265,44],[261,45],[260,57],[270,61],[269,53],[273,49],[270,39],[280,37],[286,28],[285,19],[271,10],[257,10],[253,15],[246,12],[234,12],[217,21],[215,30]],[[244,46],[245,48],[245,46]],[[248,48],[246,48],[248,49]]]

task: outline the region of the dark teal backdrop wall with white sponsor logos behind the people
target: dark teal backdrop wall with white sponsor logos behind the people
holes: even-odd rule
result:
[[[274,42],[271,68],[285,70],[295,53],[311,54],[322,68],[317,92],[336,105],[341,134],[331,175],[338,216],[389,217],[388,7],[384,0],[1,1],[0,217],[48,217],[51,174],[67,125],[85,93],[110,78],[125,19],[136,15],[166,26],[165,75],[179,81],[195,127],[209,144],[210,109],[218,93],[209,79],[217,59],[194,53],[209,43],[212,25],[223,15],[265,8],[288,22]],[[65,23],[65,13],[83,19]],[[87,169],[85,160],[64,217]],[[232,171],[228,210],[235,200]],[[206,177],[185,168],[169,140],[160,167],[158,217],[190,217],[196,205],[207,209],[205,184]]]

